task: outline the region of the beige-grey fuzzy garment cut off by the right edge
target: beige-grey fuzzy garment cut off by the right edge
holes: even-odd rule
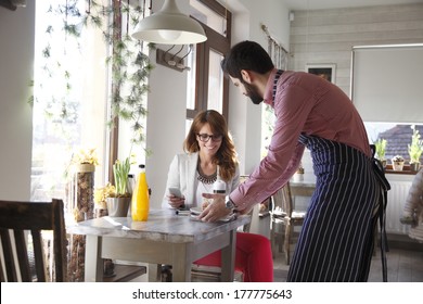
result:
[[[411,224],[410,238],[423,242],[423,168],[414,176],[400,220]]]

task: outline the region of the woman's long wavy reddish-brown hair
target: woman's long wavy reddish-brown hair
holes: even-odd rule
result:
[[[215,110],[207,110],[200,112],[194,117],[190,131],[183,142],[183,150],[188,153],[200,151],[196,135],[206,123],[210,125],[210,129],[214,135],[222,136],[220,148],[215,154],[213,162],[219,166],[220,177],[225,181],[229,181],[235,175],[238,157],[235,145],[233,144],[232,137],[228,130],[227,121],[219,112]]]

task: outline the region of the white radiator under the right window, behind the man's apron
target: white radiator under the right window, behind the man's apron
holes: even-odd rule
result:
[[[411,181],[389,181],[390,190],[388,191],[386,207],[386,232],[408,235],[409,225],[402,225],[399,218],[402,215],[403,205],[406,204],[408,191]]]

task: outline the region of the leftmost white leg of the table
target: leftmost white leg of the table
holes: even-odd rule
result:
[[[101,282],[103,280],[103,258],[101,257],[103,238],[88,235],[86,241],[85,281]]]

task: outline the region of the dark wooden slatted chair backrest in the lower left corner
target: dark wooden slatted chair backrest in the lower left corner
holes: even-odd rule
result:
[[[51,230],[53,236],[54,266],[51,280],[67,281],[67,239],[63,201],[0,201],[1,281],[48,281],[41,236],[44,230]]]

